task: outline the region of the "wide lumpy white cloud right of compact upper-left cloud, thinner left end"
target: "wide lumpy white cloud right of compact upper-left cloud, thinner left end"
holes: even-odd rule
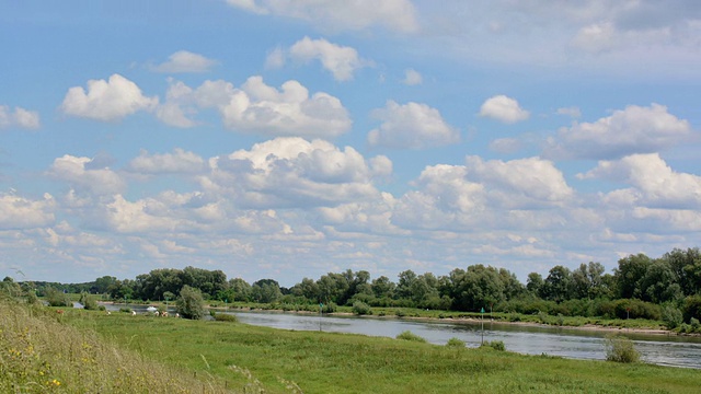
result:
[[[240,89],[222,80],[205,81],[197,89],[171,82],[157,115],[166,124],[192,127],[192,117],[202,108],[216,108],[229,129],[264,136],[333,138],[352,125],[338,99],[323,92],[310,95],[297,81],[277,90],[261,77],[249,78]]]

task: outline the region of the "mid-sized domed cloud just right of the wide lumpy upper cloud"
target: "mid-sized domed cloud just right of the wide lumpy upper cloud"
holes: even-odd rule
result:
[[[425,149],[460,141],[460,131],[448,125],[438,109],[426,104],[400,105],[389,101],[384,108],[375,109],[372,115],[382,124],[368,134],[370,146]]]

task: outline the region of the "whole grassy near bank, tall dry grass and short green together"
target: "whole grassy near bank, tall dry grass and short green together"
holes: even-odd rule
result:
[[[0,308],[7,393],[696,393],[701,376],[237,322]]]

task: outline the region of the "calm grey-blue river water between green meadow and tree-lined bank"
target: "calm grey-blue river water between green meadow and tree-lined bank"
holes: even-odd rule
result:
[[[517,324],[481,322],[426,322],[399,318],[338,317],[267,312],[235,312],[240,322],[280,329],[324,331],[395,337],[411,331],[436,345],[450,338],[464,340],[468,347],[478,347],[484,340],[503,340],[506,349],[525,355],[549,355],[573,359],[606,359],[606,335],[610,332],[540,327]],[[621,334],[631,338],[645,362],[701,369],[701,338],[667,335]]]

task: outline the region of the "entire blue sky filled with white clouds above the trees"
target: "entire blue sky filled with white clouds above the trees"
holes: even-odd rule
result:
[[[701,246],[697,0],[0,0],[0,275]]]

